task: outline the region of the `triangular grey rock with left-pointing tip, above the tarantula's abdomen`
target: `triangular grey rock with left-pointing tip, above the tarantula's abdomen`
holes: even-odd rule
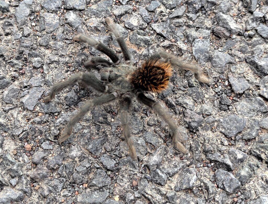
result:
[[[152,23],[150,25],[152,29],[158,34],[164,36],[167,39],[171,38],[171,34],[174,32],[175,28],[168,19],[166,22]]]

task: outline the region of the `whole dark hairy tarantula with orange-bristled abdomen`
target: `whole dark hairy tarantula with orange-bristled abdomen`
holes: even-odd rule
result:
[[[155,113],[165,120],[173,133],[173,144],[182,153],[187,153],[187,149],[181,143],[184,142],[184,140],[176,123],[159,103],[146,97],[144,91],[160,93],[165,90],[168,87],[169,78],[172,75],[171,67],[194,72],[195,78],[199,82],[208,84],[209,79],[203,74],[198,66],[183,63],[183,61],[166,52],[152,55],[141,67],[133,67],[131,56],[129,55],[124,38],[118,29],[116,29],[111,18],[107,17],[105,20],[109,30],[114,34],[117,43],[122,50],[124,63],[114,51],[92,37],[85,34],[79,34],[73,38],[74,41],[82,41],[103,52],[113,61],[113,63],[101,57],[92,57],[85,62],[84,66],[88,70],[91,70],[91,68],[94,68],[99,64],[106,67],[101,70],[101,80],[99,80],[93,72],[80,72],[72,75],[67,80],[52,86],[50,94],[43,99],[44,102],[51,101],[55,97],[55,93],[58,93],[67,86],[73,86],[77,82],[79,82],[80,85],[91,86],[97,91],[105,93],[105,95],[102,95],[101,97],[92,98],[84,103],[79,113],[75,114],[70,119],[66,126],[65,133],[58,138],[58,142],[62,143],[72,134],[73,126],[81,120],[93,106],[102,105],[115,99],[121,99],[120,117],[123,134],[129,148],[129,154],[131,158],[135,160],[136,151],[129,128],[129,110],[132,98],[136,96],[139,101],[151,107]]]

